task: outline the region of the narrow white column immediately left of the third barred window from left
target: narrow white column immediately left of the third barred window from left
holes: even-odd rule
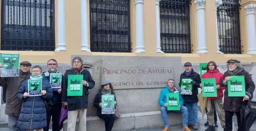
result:
[[[161,40],[160,40],[160,13],[159,13],[159,2],[161,0],[156,0],[156,52],[164,53],[161,50]]]

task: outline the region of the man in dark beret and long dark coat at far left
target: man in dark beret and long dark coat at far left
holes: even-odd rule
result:
[[[0,63],[0,68],[3,64]],[[5,114],[8,115],[8,128],[9,131],[19,131],[16,124],[21,113],[22,101],[17,98],[17,91],[21,83],[29,79],[31,63],[23,61],[20,63],[19,76],[15,77],[0,77],[0,86],[7,87],[6,89],[6,105]]]

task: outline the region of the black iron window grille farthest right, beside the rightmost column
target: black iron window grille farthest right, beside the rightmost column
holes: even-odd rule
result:
[[[224,54],[241,54],[239,0],[222,0],[217,8],[220,51]]]

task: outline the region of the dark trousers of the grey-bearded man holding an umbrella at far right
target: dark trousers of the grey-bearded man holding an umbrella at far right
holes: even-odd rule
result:
[[[237,131],[243,131],[242,124],[241,124],[241,118],[240,118],[240,112],[235,112],[237,115]],[[226,131],[232,131],[232,118],[234,116],[234,112],[231,111],[225,111],[225,126]]]

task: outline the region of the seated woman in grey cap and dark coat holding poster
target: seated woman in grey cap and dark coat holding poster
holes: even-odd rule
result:
[[[105,121],[105,128],[106,131],[111,131],[113,125],[114,125],[114,107],[116,106],[116,96],[114,93],[114,88],[111,85],[110,81],[102,81],[101,87],[99,89],[99,92],[96,94],[95,99],[93,101],[93,105],[97,107],[97,115]],[[114,101],[112,101],[111,95],[114,95]],[[110,97],[110,99],[107,99],[107,96]],[[104,101],[102,102],[102,97],[104,98]],[[103,105],[102,105],[103,103]],[[105,110],[106,109],[106,110]]]

